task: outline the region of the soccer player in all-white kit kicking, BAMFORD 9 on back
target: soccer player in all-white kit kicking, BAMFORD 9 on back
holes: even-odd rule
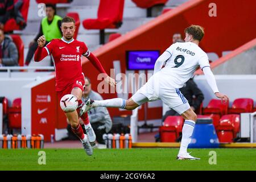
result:
[[[185,43],[172,44],[159,56],[155,63],[154,75],[129,100],[113,98],[93,101],[88,99],[81,110],[88,111],[98,106],[133,110],[145,102],[161,99],[164,104],[177,111],[185,119],[177,159],[200,159],[189,155],[187,152],[196,123],[196,114],[179,88],[183,87],[184,83],[193,76],[200,65],[215,96],[224,101],[229,99],[228,96],[218,91],[215,78],[210,69],[207,53],[199,47],[199,42],[203,36],[203,27],[192,25],[185,28]],[[162,68],[166,61],[165,67]]]

